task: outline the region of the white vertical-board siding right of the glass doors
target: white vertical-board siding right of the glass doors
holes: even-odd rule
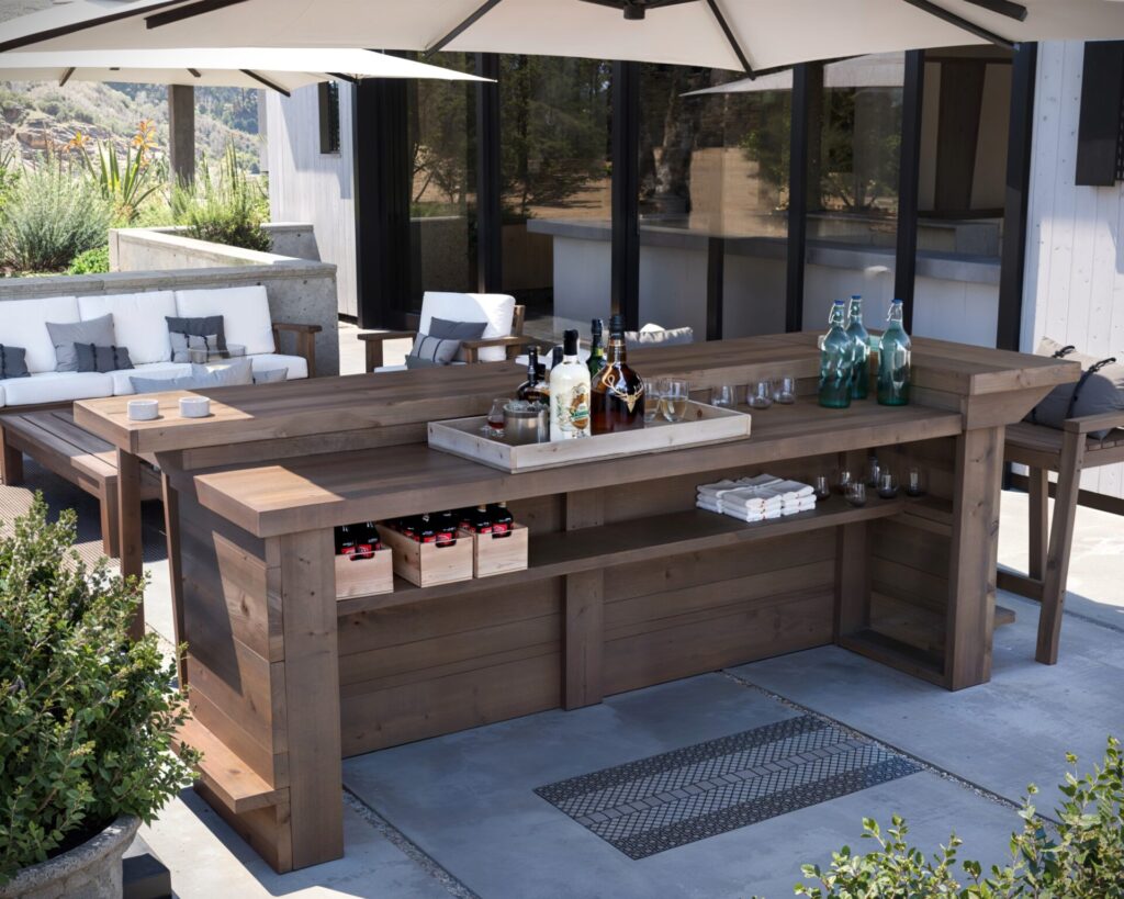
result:
[[[1039,47],[1022,348],[1043,336],[1124,358],[1124,190],[1075,185],[1085,45]],[[1124,497],[1124,465],[1086,471],[1081,485]]]

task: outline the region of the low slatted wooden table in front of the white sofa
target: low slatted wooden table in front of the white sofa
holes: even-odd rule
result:
[[[120,555],[117,526],[117,451],[74,424],[69,408],[0,415],[0,481],[24,481],[24,454],[98,498],[101,542],[110,557]],[[142,466],[142,499],[160,499],[160,475]]]

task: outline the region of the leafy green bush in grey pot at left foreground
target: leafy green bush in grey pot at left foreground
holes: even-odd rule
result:
[[[0,898],[119,897],[142,821],[192,779],[175,669],[128,625],[144,584],[73,552],[42,497],[0,538]]]

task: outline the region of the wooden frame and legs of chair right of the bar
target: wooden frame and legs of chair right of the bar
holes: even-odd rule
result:
[[[1089,436],[1091,432],[1105,429],[1109,433],[1104,439]],[[1030,421],[1008,425],[1004,458],[1028,469],[1030,563],[1026,574],[997,572],[996,584],[1042,603],[1034,657],[1053,665],[1058,662],[1081,472],[1124,462],[1124,411],[1070,418],[1061,430]],[[1050,472],[1058,474],[1052,523],[1049,520]]]

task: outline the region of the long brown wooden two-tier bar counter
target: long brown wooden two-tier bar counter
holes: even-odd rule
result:
[[[127,398],[76,403],[164,472],[200,791],[288,871],[343,853],[344,756],[832,643],[986,682],[1004,427],[1078,366],[917,339],[913,405],[827,410],[815,339],[635,352],[698,399],[780,375],[801,396],[743,441],[517,475],[425,444],[426,423],[510,394],[510,363],[227,388],[194,421],[180,394],[155,423],[129,423]],[[872,452],[923,467],[927,494],[760,524],[695,508],[699,483],[863,471]],[[498,500],[529,530],[525,571],[336,599],[335,526]]]

